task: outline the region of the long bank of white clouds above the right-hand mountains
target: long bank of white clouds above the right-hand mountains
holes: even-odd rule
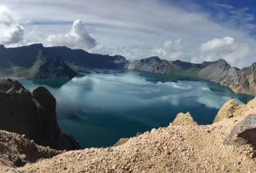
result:
[[[193,63],[225,59],[230,65],[238,68],[254,62],[256,47],[249,43],[236,42],[234,38],[211,39],[199,46],[186,46],[182,39],[167,40],[161,47],[152,46],[103,46],[95,47],[91,52],[109,55],[123,55],[129,60],[139,60],[150,56],[159,56],[166,60],[182,60]]]

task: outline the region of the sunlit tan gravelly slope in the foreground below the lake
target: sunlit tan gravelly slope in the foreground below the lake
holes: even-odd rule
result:
[[[212,125],[199,126],[189,113],[168,127],[122,140],[119,145],[67,151],[23,167],[3,155],[15,149],[0,142],[2,172],[256,172],[256,98],[247,105],[228,101]],[[206,115],[207,116],[207,113]],[[6,132],[1,132],[6,133]],[[11,135],[11,134],[10,134]],[[21,142],[22,138],[13,134]],[[13,143],[6,140],[6,143]],[[45,147],[43,147],[45,148]],[[43,149],[41,148],[41,150]],[[14,150],[14,151],[13,151]],[[37,149],[38,150],[38,149]],[[48,149],[49,150],[49,149]],[[46,149],[43,151],[47,151]],[[29,151],[19,151],[26,155]],[[53,151],[47,151],[55,155]],[[56,151],[57,152],[57,151]],[[17,152],[16,152],[17,153]]]

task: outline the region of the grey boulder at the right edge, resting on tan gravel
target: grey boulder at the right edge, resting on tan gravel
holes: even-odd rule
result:
[[[256,114],[250,114],[234,126],[226,142],[230,145],[251,143],[256,146]]]

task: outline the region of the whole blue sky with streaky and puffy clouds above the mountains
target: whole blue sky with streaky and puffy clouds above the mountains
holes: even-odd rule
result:
[[[0,43],[242,68],[255,61],[255,13],[255,1],[1,0]]]

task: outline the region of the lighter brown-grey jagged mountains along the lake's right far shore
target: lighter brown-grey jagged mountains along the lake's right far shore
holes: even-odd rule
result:
[[[250,67],[238,69],[231,67],[223,59],[193,64],[180,60],[167,61],[161,60],[159,57],[149,57],[128,63],[126,67],[169,75],[197,77],[228,86],[236,93],[256,94],[256,63]]]

